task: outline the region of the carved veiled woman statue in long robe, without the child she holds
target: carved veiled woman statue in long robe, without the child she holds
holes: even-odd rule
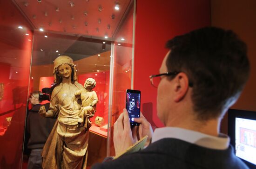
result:
[[[54,60],[54,82],[49,110],[40,107],[41,117],[58,117],[42,151],[43,169],[85,169],[88,154],[88,127],[79,127],[81,100],[74,94],[82,89],[69,56]]]

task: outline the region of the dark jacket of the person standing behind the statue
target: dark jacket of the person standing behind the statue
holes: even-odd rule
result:
[[[27,131],[30,134],[30,138],[27,143],[29,149],[42,149],[44,144],[52,131],[56,119],[41,118],[38,111],[40,104],[34,105],[29,111],[27,117]],[[48,110],[49,104],[44,105]]]

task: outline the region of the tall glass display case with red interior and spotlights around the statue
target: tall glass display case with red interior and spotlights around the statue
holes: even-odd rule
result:
[[[78,83],[96,81],[87,166],[115,155],[113,125],[133,88],[135,1],[0,0],[0,16],[0,168],[26,169],[29,95],[53,85],[63,55]]]

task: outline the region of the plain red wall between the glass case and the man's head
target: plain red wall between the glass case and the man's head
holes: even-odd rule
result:
[[[156,127],[157,89],[149,75],[158,74],[168,39],[210,25],[210,0],[137,0],[134,89],[141,90],[141,111]]]

